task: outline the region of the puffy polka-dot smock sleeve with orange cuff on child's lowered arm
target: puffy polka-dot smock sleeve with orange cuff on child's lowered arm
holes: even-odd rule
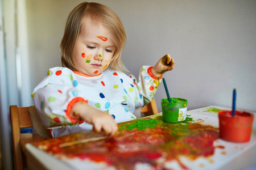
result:
[[[77,90],[77,86],[79,83],[72,70],[53,67],[35,87],[31,96],[46,128],[61,128],[79,122],[70,116],[71,108],[77,102],[88,101]]]

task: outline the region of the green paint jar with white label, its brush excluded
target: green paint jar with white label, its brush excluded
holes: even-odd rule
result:
[[[188,100],[181,98],[162,99],[163,121],[170,123],[181,123],[186,120]]]

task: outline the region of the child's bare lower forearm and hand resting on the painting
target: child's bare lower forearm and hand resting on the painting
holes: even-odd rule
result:
[[[117,122],[110,114],[99,111],[87,103],[76,103],[72,107],[71,116],[93,124],[96,132],[103,130],[106,134],[114,135],[118,130]]]

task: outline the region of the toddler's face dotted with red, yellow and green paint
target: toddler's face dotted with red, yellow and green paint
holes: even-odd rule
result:
[[[77,71],[87,75],[102,73],[112,61],[115,44],[112,36],[101,25],[94,25],[90,19],[81,26],[75,46]]]

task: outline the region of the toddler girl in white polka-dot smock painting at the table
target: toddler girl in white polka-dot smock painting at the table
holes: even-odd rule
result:
[[[49,69],[32,94],[53,137],[92,129],[113,135],[118,122],[135,119],[135,107],[152,100],[174,60],[167,54],[154,67],[143,66],[137,81],[120,59],[125,42],[109,7],[85,2],[71,11],[60,45],[65,67]]]

